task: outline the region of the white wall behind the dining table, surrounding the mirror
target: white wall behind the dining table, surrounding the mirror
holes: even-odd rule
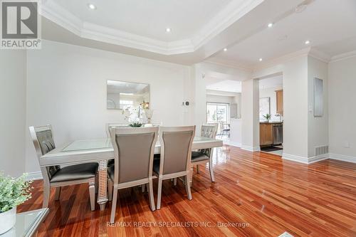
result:
[[[150,84],[152,122],[193,123],[182,106],[184,96],[191,95],[187,66],[53,41],[28,51],[27,61],[27,126],[53,125],[58,145],[105,137],[106,122],[124,122],[120,110],[106,109],[106,80]],[[26,171],[36,172],[38,162],[26,135]]]

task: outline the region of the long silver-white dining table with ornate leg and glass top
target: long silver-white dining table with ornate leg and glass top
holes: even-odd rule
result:
[[[222,147],[222,145],[220,139],[196,136],[193,140],[192,150]],[[160,153],[160,148],[161,145],[159,139],[157,139],[155,154]],[[98,204],[100,210],[103,211],[108,202],[107,172],[108,160],[110,159],[114,159],[114,149],[110,138],[78,139],[44,154],[39,163],[40,167],[51,167],[98,162]]]

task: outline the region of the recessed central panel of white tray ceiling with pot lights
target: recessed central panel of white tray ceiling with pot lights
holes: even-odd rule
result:
[[[80,21],[94,23],[117,31],[159,41],[189,39],[233,0],[56,0],[56,4],[77,16]],[[184,14],[183,14],[184,13]],[[166,28],[172,28],[167,33]]]

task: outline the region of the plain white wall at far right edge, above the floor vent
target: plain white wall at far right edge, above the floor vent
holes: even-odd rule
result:
[[[356,162],[356,57],[329,63],[329,143],[335,158]]]

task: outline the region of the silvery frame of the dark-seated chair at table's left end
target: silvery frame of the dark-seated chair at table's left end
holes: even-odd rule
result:
[[[43,156],[43,154],[42,154],[41,147],[40,147],[40,144],[37,139],[36,132],[51,130],[52,139],[54,140],[52,126],[51,125],[46,125],[46,126],[42,126],[42,127],[31,126],[31,127],[29,127],[29,130],[30,130],[30,134],[32,137],[33,145],[35,146],[35,149],[36,149],[37,158],[39,161],[39,159],[41,159],[41,156]],[[61,182],[51,183],[51,181],[48,177],[48,172],[47,172],[46,167],[41,167],[41,173],[42,173],[42,177],[43,177],[43,204],[42,204],[43,208],[48,207],[49,198],[51,196],[51,187],[56,188],[55,200],[58,201],[59,197],[61,196],[61,187],[62,186],[88,183],[89,184],[89,196],[90,196],[90,209],[91,209],[91,211],[95,210],[95,177],[90,178],[90,179],[77,179],[77,180],[73,180],[73,181],[61,181]]]

